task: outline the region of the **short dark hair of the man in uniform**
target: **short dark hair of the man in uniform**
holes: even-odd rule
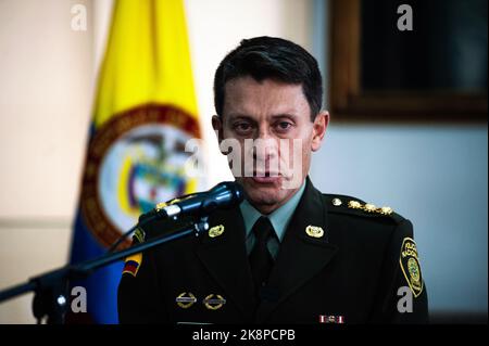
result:
[[[227,81],[251,76],[256,81],[275,79],[302,85],[302,91],[314,120],[323,105],[323,80],[317,61],[305,49],[276,37],[255,37],[241,40],[217,67],[214,76],[214,105],[223,114]]]

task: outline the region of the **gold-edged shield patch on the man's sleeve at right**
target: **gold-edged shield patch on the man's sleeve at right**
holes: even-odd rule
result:
[[[402,241],[399,264],[414,296],[419,296],[423,292],[423,277],[416,243],[411,238],[404,238]]]

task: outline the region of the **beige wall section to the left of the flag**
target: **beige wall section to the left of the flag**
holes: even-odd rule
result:
[[[0,287],[67,257],[93,79],[75,3],[91,16],[90,1],[0,2]],[[0,322],[33,322],[30,302],[0,304]]]

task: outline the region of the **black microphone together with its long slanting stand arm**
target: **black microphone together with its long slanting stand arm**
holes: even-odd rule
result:
[[[189,195],[184,200],[176,200],[175,203],[156,207],[150,212],[136,227],[156,219],[176,220],[180,215],[192,216],[192,226],[188,226],[172,234],[164,234],[129,248],[105,253],[104,255],[83,261],[76,265],[67,265],[45,274],[37,275],[24,284],[20,284],[0,292],[0,303],[17,295],[34,291],[33,312],[38,323],[45,316],[48,316],[48,323],[64,323],[64,316],[67,309],[68,283],[73,279],[82,279],[90,275],[96,269],[104,267],[114,261],[121,260],[130,255],[148,251],[154,246],[171,242],[173,240],[187,236],[191,233],[199,235],[209,230],[209,215],[220,207],[230,207],[240,203],[243,198],[242,188],[236,182],[221,182],[210,191]],[[178,201],[178,202],[177,202]],[[135,229],[134,227],[133,229]],[[123,233],[125,236],[127,232]],[[115,245],[118,244],[118,241]]]

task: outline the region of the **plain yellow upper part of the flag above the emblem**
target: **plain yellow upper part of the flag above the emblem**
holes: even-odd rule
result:
[[[197,118],[181,0],[115,2],[98,88],[96,128],[148,102],[178,106]]]

